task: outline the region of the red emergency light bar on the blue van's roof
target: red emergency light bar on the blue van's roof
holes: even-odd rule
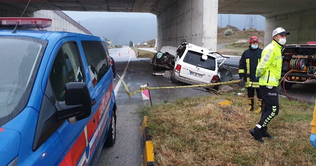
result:
[[[51,26],[51,19],[33,17],[0,17],[0,27],[15,27],[17,23],[20,27],[47,28]]]

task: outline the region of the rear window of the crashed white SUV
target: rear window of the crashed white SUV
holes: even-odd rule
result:
[[[189,63],[191,65],[201,67],[208,70],[215,70],[216,62],[215,58],[207,56],[207,59],[202,59],[202,54],[194,51],[188,51],[183,59],[183,62]]]

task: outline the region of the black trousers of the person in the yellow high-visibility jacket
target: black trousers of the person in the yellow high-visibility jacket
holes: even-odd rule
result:
[[[265,127],[278,114],[278,89],[276,86],[272,86],[271,89],[267,86],[260,86],[260,92],[263,97],[264,108],[261,111],[261,119],[258,124]]]

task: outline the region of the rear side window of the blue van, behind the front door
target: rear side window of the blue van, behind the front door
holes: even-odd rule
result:
[[[102,42],[82,41],[81,42],[93,86],[100,82],[103,76],[109,70],[109,58]]]

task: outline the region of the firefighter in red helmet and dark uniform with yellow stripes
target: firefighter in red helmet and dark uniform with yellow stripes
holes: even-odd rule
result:
[[[245,87],[247,88],[248,104],[247,111],[253,111],[255,90],[258,97],[259,108],[255,113],[260,113],[263,105],[262,95],[259,90],[259,80],[256,78],[257,65],[260,62],[262,49],[259,48],[259,39],[256,36],[252,36],[249,40],[249,49],[245,50],[239,60],[238,74],[239,78],[245,81]]]

